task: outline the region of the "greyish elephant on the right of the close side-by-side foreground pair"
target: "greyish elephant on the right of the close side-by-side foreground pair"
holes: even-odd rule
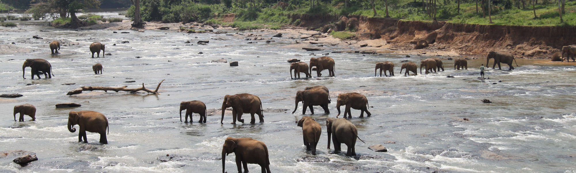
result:
[[[358,137],[358,130],[353,123],[346,118],[328,118],[326,119],[326,131],[328,131],[328,149],[330,149],[330,138],[332,138],[335,154],[342,152],[340,144],[344,143],[348,146],[346,156],[356,155],[354,146],[356,145],[356,138],[360,141],[362,140]],[[332,136],[332,133],[334,133],[334,136]]]

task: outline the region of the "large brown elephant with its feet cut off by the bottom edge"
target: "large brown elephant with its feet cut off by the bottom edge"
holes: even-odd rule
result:
[[[222,145],[222,173],[226,170],[226,156],[230,153],[236,155],[238,173],[242,173],[242,166],[244,172],[248,172],[248,163],[260,165],[262,173],[270,173],[270,157],[264,142],[252,138],[227,137]]]

